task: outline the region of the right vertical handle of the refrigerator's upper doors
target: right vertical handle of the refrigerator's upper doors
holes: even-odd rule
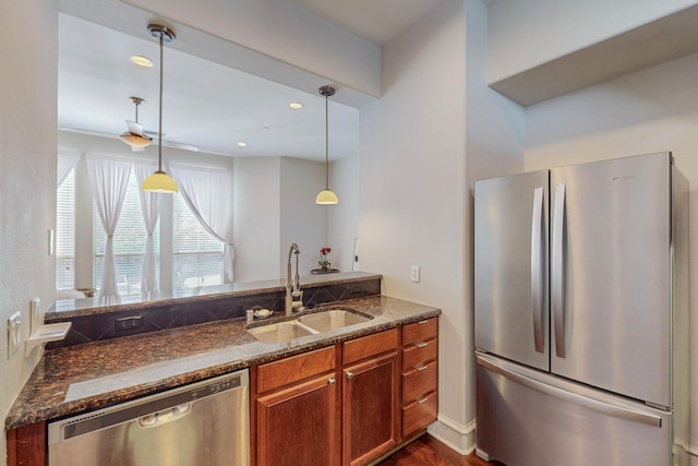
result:
[[[551,313],[555,326],[555,354],[559,358],[565,353],[565,297],[564,288],[564,227],[565,227],[565,184],[555,187],[555,210],[553,212],[553,250],[551,254]]]

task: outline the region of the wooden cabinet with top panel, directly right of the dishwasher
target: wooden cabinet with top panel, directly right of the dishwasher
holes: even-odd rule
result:
[[[334,346],[257,367],[257,465],[338,465],[335,367]]]

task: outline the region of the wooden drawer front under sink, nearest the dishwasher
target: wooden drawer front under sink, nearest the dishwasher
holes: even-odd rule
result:
[[[334,346],[261,365],[257,368],[257,392],[268,392],[334,369]]]

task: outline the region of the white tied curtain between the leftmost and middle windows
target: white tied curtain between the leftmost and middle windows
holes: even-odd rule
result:
[[[86,160],[92,195],[99,212],[101,226],[107,234],[100,296],[118,296],[113,267],[113,232],[117,229],[133,164],[123,158],[97,155],[87,155]]]

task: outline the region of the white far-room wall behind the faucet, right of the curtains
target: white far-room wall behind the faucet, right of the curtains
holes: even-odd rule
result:
[[[324,180],[324,163],[290,157],[236,159],[236,282],[285,278],[293,242],[301,250],[300,275],[317,268],[320,249],[328,241],[328,207],[315,205]],[[344,216],[337,222],[346,223]]]

